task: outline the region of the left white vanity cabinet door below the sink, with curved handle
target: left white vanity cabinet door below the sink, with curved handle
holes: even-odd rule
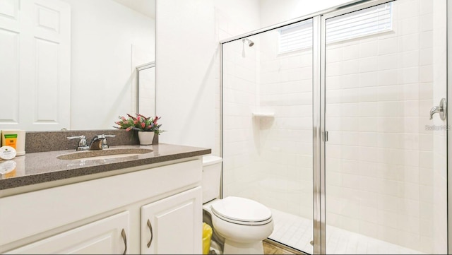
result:
[[[129,241],[129,211],[77,227],[6,254],[123,254]]]

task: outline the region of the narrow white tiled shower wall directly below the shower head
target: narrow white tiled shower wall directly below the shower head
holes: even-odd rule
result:
[[[255,45],[256,39],[252,39]],[[258,97],[256,48],[242,40],[223,45],[223,192],[255,198],[258,142],[252,112]],[[244,55],[243,55],[244,54]],[[245,57],[244,57],[245,56]]]

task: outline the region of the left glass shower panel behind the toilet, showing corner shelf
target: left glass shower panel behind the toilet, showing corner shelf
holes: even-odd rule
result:
[[[224,196],[263,203],[270,239],[312,253],[312,32],[283,54],[278,29],[246,39],[222,45]]]

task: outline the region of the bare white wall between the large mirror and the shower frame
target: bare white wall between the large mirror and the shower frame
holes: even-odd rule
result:
[[[257,29],[257,3],[157,0],[156,114],[167,131],[160,142],[220,155],[219,41]]]

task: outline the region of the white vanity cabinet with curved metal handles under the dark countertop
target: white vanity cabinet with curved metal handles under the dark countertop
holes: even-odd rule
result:
[[[201,177],[189,158],[0,198],[0,253],[201,254]]]

